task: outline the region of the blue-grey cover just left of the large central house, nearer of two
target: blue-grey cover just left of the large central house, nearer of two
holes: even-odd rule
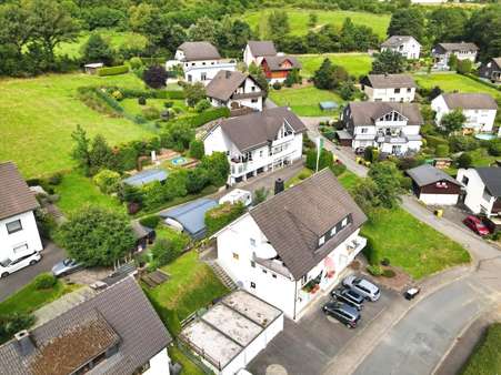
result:
[[[206,212],[217,205],[217,201],[202,197],[162,211],[160,212],[160,216],[176,220],[191,237],[199,240],[206,234]]]

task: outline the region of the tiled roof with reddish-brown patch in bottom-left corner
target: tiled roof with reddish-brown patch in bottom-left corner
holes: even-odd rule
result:
[[[76,330],[84,327],[82,324],[86,322],[94,322],[92,324],[100,327],[98,331],[101,334],[103,330],[107,332],[108,338],[102,342],[103,345],[111,343],[113,337],[120,337],[118,353],[100,362],[88,374],[132,374],[172,341],[140,286],[132,277],[127,277],[32,330],[30,337],[34,349],[28,354],[21,353],[16,339],[1,345],[0,374],[52,374],[50,368],[37,368],[41,363],[40,354],[57,341],[62,343],[71,337]],[[86,338],[74,339],[71,349],[54,351],[53,355],[60,353],[58,359],[61,359],[67,355],[66,351],[89,351],[89,346],[96,343],[91,342],[92,337]],[[102,341],[102,337],[96,336],[94,339]],[[67,368],[67,373],[70,372]]]

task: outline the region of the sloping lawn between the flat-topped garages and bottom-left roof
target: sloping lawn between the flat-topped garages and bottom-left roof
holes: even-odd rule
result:
[[[194,251],[183,254],[162,270],[171,278],[154,288],[144,290],[173,334],[180,332],[180,322],[191,313],[229,293],[212,270],[199,261]]]

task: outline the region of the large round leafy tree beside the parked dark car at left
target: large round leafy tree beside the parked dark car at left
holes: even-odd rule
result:
[[[124,215],[97,206],[72,213],[57,236],[68,255],[87,266],[113,265],[136,244]]]

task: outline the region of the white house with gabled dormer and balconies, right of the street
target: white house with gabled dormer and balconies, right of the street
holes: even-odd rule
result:
[[[353,150],[368,146],[404,155],[421,148],[423,124],[418,104],[398,102],[350,102],[342,113],[343,145]]]

